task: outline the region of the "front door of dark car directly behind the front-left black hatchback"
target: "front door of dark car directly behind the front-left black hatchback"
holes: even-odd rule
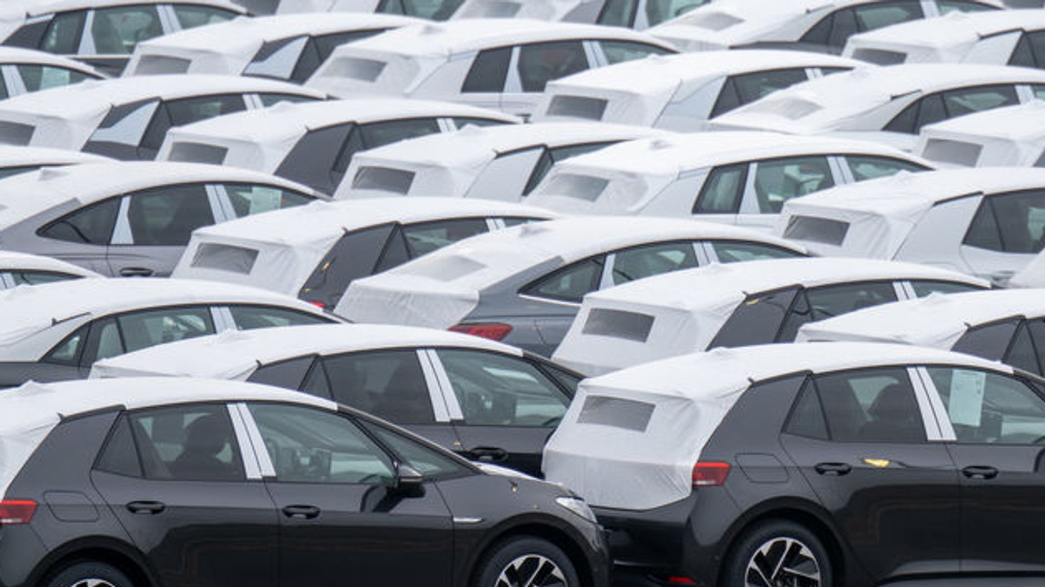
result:
[[[570,407],[567,389],[521,356],[478,349],[432,350],[466,459],[541,476],[548,437]],[[449,389],[446,389],[449,388]]]

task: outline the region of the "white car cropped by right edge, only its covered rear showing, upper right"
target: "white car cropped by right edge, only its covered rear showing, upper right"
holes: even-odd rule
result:
[[[1045,101],[922,127],[914,152],[940,167],[1045,167]]]

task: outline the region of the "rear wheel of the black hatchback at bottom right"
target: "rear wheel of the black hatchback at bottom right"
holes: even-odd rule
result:
[[[833,587],[832,570],[828,549],[815,534],[795,522],[770,520],[741,536],[726,559],[720,585]]]

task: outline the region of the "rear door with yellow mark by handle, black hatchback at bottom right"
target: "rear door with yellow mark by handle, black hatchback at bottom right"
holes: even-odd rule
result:
[[[911,371],[810,377],[781,436],[876,584],[959,568],[958,473]]]

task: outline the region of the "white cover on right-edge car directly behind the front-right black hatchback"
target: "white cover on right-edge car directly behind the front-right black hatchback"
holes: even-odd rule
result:
[[[795,342],[850,341],[898,343],[950,349],[969,329],[990,322],[1045,315],[1045,290],[994,289],[966,294],[930,294],[864,308],[798,330]],[[1003,354],[1005,349],[998,349]]]

